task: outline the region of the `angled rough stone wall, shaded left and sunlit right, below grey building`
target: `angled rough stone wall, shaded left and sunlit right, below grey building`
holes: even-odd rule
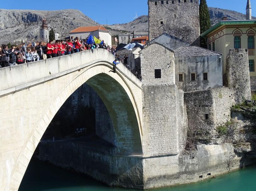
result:
[[[216,127],[231,119],[231,106],[235,104],[231,88],[215,88],[184,93],[188,115],[188,128],[202,135],[215,135]],[[208,114],[208,119],[206,118]]]

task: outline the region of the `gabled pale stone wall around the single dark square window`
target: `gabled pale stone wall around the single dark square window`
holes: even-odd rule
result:
[[[142,84],[175,84],[174,53],[154,43],[140,51]],[[155,78],[155,69],[161,69],[161,78]]]

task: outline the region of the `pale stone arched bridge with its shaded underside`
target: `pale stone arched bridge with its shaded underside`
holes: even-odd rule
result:
[[[103,49],[0,69],[0,190],[17,191],[54,115],[83,83],[109,111],[120,155],[142,155],[141,82]]]

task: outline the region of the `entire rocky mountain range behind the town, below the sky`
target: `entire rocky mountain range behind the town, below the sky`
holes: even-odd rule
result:
[[[244,20],[245,14],[220,8],[209,7],[211,23],[216,24],[223,17],[228,20]],[[25,41],[38,41],[42,19],[45,18],[49,28],[53,28],[60,37],[66,37],[69,32],[79,26],[100,25],[84,15],[81,11],[67,9],[60,11],[36,10],[6,10],[0,9],[0,43],[13,42],[17,39]],[[253,17],[253,19],[256,19]],[[112,35],[125,31],[147,32],[148,17],[143,15],[125,24],[105,26]]]

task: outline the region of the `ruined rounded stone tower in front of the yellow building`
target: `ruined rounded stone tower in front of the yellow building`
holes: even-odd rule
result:
[[[251,100],[250,72],[247,49],[230,49],[226,59],[228,87],[236,90],[236,103]]]

